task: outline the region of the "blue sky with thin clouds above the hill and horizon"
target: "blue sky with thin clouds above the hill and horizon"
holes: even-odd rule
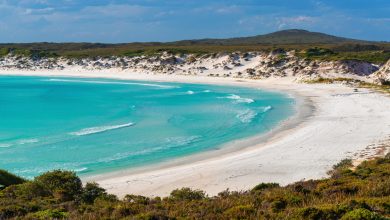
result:
[[[0,0],[0,42],[125,43],[306,29],[390,41],[390,0]]]

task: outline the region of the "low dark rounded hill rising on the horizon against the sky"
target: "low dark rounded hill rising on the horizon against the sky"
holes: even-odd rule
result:
[[[340,44],[340,43],[372,43],[369,41],[336,37],[319,32],[290,29],[253,37],[228,39],[201,39],[172,42],[175,45],[253,45],[253,44]]]

